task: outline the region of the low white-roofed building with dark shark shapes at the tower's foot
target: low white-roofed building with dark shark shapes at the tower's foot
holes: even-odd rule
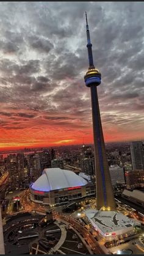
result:
[[[106,241],[121,240],[124,237],[135,234],[135,225],[139,222],[129,219],[117,211],[98,211],[89,209],[85,215],[91,222],[93,228]]]

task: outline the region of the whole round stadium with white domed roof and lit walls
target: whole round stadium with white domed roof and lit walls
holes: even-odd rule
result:
[[[70,170],[44,169],[42,175],[31,184],[31,200],[55,206],[86,196],[87,181]]]

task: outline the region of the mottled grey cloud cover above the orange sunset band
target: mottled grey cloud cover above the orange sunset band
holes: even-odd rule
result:
[[[93,59],[102,73],[100,109],[109,111],[103,122],[117,123],[121,113],[129,112],[118,125],[126,119],[140,123],[136,115],[135,121],[131,119],[131,113],[141,114],[143,109],[142,2],[0,3],[0,101],[15,104],[22,115],[29,110],[54,113],[45,119],[60,125],[77,118],[91,122],[90,90],[84,84],[85,10]],[[67,119],[67,113],[74,117]]]

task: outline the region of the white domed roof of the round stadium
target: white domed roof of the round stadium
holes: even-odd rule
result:
[[[37,191],[48,192],[85,185],[87,185],[87,181],[74,174],[71,170],[49,168],[43,170],[43,174],[35,181],[31,188]]]

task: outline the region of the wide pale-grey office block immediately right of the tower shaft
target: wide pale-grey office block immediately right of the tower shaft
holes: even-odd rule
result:
[[[113,188],[125,185],[123,167],[120,167],[117,164],[115,164],[114,166],[109,167],[109,172]]]

